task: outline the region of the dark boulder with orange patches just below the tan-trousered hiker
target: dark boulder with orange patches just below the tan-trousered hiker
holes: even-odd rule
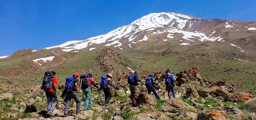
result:
[[[145,92],[140,92],[132,96],[133,107],[150,108],[152,110],[156,107],[156,98],[153,95],[148,95]]]

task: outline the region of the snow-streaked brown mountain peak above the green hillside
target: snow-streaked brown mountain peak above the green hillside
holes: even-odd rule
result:
[[[78,52],[80,50],[93,50],[103,46],[113,46],[123,50],[132,48],[132,46],[138,45],[139,42],[153,40],[156,35],[159,36],[157,40],[161,39],[161,42],[171,40],[179,40],[180,42],[224,42],[227,35],[223,33],[227,30],[254,30],[255,26],[255,22],[239,22],[224,19],[208,20],[172,12],[151,13],[135,20],[129,25],[119,27],[106,34],[85,40],[68,41],[44,49]]]

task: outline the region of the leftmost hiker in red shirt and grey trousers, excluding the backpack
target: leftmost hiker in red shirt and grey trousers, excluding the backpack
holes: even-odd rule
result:
[[[58,104],[58,95],[57,95],[57,78],[56,73],[52,71],[52,88],[50,90],[45,90],[46,98],[47,98],[47,116],[54,117],[52,114],[53,110],[56,108]]]

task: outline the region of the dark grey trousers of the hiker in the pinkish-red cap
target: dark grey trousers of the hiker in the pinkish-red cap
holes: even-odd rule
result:
[[[71,102],[71,98],[73,98],[76,101],[76,113],[80,112],[80,106],[81,106],[80,98],[78,97],[76,92],[68,92],[67,96],[66,96],[67,103],[66,103],[65,111],[64,111],[64,114],[66,114],[66,115],[68,114],[68,111],[69,111],[69,105]]]

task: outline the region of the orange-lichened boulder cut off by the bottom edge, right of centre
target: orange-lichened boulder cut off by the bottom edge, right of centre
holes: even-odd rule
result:
[[[226,118],[217,110],[206,110],[199,113],[197,120],[226,120]]]

